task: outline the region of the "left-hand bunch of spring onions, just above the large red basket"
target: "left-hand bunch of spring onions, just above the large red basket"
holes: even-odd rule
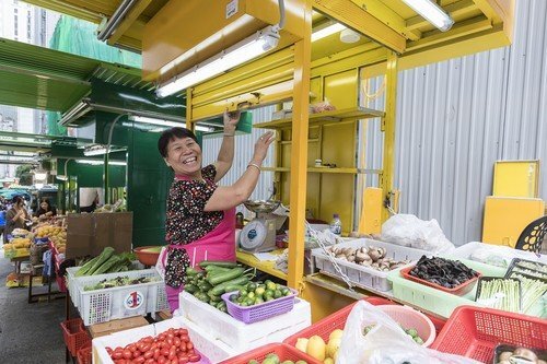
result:
[[[521,282],[500,278],[484,280],[480,283],[478,303],[497,309],[521,312]]]

